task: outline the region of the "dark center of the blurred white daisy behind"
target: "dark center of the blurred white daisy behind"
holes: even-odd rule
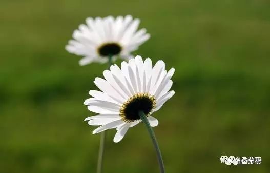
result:
[[[105,43],[98,48],[101,56],[113,56],[121,52],[122,48],[117,43]]]

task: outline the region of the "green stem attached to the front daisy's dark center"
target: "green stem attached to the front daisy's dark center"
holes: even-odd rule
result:
[[[159,168],[160,168],[160,173],[165,173],[161,152],[160,152],[160,149],[158,147],[158,143],[157,143],[154,131],[153,131],[152,127],[150,126],[149,121],[147,120],[146,114],[144,114],[143,111],[139,111],[139,116],[140,116],[140,119],[142,120],[142,122],[146,125],[146,128],[150,134],[151,140],[155,146],[157,160],[158,160],[158,164],[159,164]]]

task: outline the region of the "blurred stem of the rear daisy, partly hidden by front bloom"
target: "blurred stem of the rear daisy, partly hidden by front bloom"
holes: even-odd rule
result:
[[[108,56],[108,69],[110,69],[112,65],[112,56]],[[106,131],[102,131],[100,134],[100,142],[99,142],[99,152],[98,152],[98,160],[97,160],[97,173],[102,172],[102,166],[103,166],[103,154],[104,154],[104,148],[105,148],[105,140],[106,140]]]

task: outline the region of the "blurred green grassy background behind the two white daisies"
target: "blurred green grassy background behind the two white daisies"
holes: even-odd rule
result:
[[[64,47],[86,17],[127,14],[151,33],[134,54],[176,69],[176,94],[154,114],[167,172],[270,171],[268,0],[2,0],[0,11],[0,172],[95,172],[99,135],[82,103],[107,65],[81,67]],[[117,144],[115,132],[105,173],[159,172],[143,124]]]

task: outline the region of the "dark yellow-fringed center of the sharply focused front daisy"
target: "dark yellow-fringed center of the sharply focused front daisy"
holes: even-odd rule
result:
[[[126,101],[121,109],[121,119],[127,123],[139,120],[139,111],[142,110],[146,116],[156,107],[156,99],[149,93],[137,93]]]

